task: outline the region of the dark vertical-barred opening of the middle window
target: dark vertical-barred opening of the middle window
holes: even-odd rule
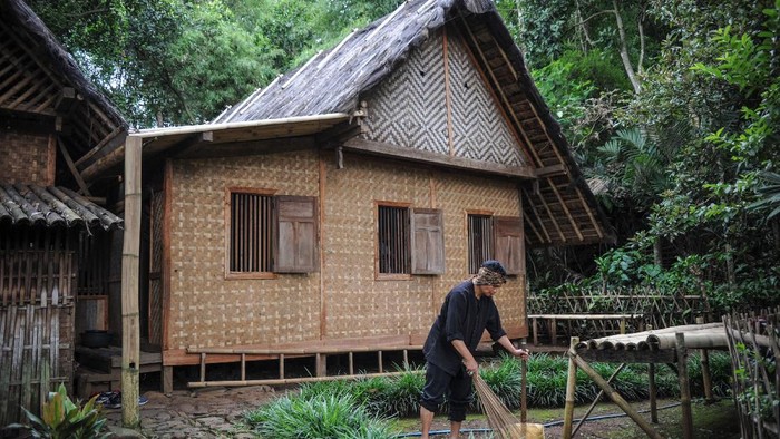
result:
[[[378,206],[379,273],[409,274],[409,208]]]

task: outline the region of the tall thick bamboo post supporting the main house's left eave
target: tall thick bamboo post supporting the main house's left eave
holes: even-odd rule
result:
[[[121,423],[127,428],[137,428],[140,425],[138,411],[140,148],[140,137],[128,136],[125,140],[125,235],[121,252]]]

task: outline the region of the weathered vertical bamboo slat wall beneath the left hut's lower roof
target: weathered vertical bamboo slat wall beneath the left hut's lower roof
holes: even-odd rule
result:
[[[74,252],[0,251],[0,426],[72,374]]]

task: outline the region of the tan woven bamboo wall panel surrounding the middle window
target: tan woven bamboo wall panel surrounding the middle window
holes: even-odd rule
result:
[[[430,328],[431,291],[441,276],[374,281],[376,201],[430,207],[428,173],[344,156],[328,167],[324,241],[328,338],[399,335]],[[358,196],[355,196],[358,195]]]

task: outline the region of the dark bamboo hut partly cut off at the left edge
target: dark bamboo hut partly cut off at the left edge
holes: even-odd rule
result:
[[[78,334],[107,329],[107,232],[121,220],[75,169],[126,125],[21,0],[0,0],[0,41],[2,427],[70,387]]]

